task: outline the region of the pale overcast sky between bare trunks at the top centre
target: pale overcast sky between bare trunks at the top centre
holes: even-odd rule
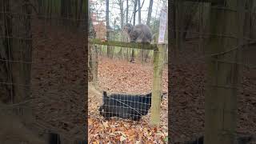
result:
[[[98,18],[99,20],[106,21],[106,1],[101,0],[92,0],[94,4],[92,6],[98,11]],[[159,18],[160,11],[163,7],[163,1],[165,0],[154,0],[153,1],[153,10],[151,14],[151,18]],[[96,3],[95,3],[96,2]],[[118,0],[110,0],[110,26],[112,27],[114,25],[114,20],[116,20],[116,24],[120,26],[120,8],[117,4]],[[141,0],[142,5],[143,0]],[[134,3],[133,1],[129,0],[128,5],[129,7],[129,22],[130,18],[132,16],[133,10],[134,10]],[[146,24],[146,18],[148,13],[148,7],[150,5],[150,0],[144,0],[144,4],[142,6],[142,23]],[[167,1],[166,1],[167,5]],[[124,10],[126,10],[126,0],[124,0]],[[124,22],[126,22],[126,12],[125,12],[125,19]],[[131,21],[133,23],[133,20]],[[138,23],[138,13],[136,14],[136,24]]]

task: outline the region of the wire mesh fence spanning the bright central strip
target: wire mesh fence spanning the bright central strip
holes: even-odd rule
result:
[[[137,38],[134,38],[134,43],[130,42],[133,38],[125,31],[127,24],[136,19],[134,20],[136,24],[133,26],[142,26],[137,22],[139,21],[137,16],[136,18],[132,16],[133,9],[137,11],[139,9],[135,6],[136,2],[138,1],[110,1],[109,10],[106,8],[107,1],[90,2],[88,63],[90,82],[93,83],[89,85],[88,95],[90,142],[152,142],[150,138],[157,133],[153,132],[146,137],[146,135],[142,136],[142,131],[153,130],[149,125],[150,116],[153,115],[151,111],[153,102],[159,104],[160,125],[163,127],[159,129],[162,136],[159,134],[157,141],[163,142],[167,136],[167,39],[162,46],[163,51],[157,50],[156,42],[141,43],[137,42]],[[143,5],[142,3],[140,6]],[[162,9],[160,4],[163,3],[165,1],[154,2],[152,15],[156,14],[154,15],[156,18],[150,23],[156,24],[146,26],[146,18],[141,18],[141,22],[145,24],[142,27],[148,30],[147,27],[150,26],[152,33],[158,32],[157,13]],[[129,8],[126,7],[127,5]],[[142,9],[148,5],[149,1],[145,1]],[[117,9],[118,7],[120,10]],[[106,16],[108,12],[109,17]],[[141,10],[141,12],[145,15],[149,10]],[[154,16],[150,18],[153,19]],[[133,30],[136,30],[134,27]],[[143,32],[139,33],[144,34]],[[150,39],[152,36],[153,34],[150,35]],[[145,35],[144,37],[146,38]],[[158,65],[154,64],[156,63],[154,57],[159,58]],[[158,68],[161,72],[156,74],[154,69]],[[154,78],[161,79],[160,83],[155,83],[159,91],[153,90]]]

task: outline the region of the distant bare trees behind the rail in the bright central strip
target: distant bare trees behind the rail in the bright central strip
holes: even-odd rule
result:
[[[98,12],[99,10],[96,7],[102,7],[104,9],[104,12],[102,13],[102,16],[104,16],[104,18],[94,19],[95,30],[97,33],[99,31],[103,31],[103,30],[98,30],[99,23],[103,21],[103,23],[106,25],[106,38],[108,38],[109,40],[110,38],[112,38],[111,40],[117,40],[117,41],[121,40],[122,42],[126,42],[127,41],[126,34],[122,34],[122,29],[121,30],[118,29],[118,26],[122,28],[126,23],[131,23],[133,25],[136,25],[136,24],[142,23],[143,20],[146,20],[146,24],[150,26],[151,29],[155,29],[154,31],[158,32],[157,22],[159,21],[155,21],[154,19],[154,22],[153,22],[152,16],[151,16],[153,11],[154,0],[150,0],[149,5],[146,6],[148,7],[147,9],[148,11],[146,12],[147,18],[145,17],[142,18],[142,13],[145,13],[145,11],[142,11],[142,8],[143,6],[145,7],[144,3],[146,2],[146,0],[132,0],[132,1],[104,0],[100,2],[96,0],[92,0],[92,2],[94,2],[92,3],[92,5],[94,4],[98,5],[98,6],[95,6],[93,10],[93,13],[95,15],[97,14],[96,17],[98,17],[98,15],[101,15],[101,13]],[[114,10],[110,8],[111,6],[114,6]],[[161,10],[161,8],[158,9],[158,12],[159,10]],[[116,16],[117,11],[118,11],[118,18],[111,18],[113,16],[113,13],[115,13],[114,16]],[[102,34],[97,34],[97,35],[101,35],[101,37],[103,36]],[[150,53],[150,50],[136,50],[136,49],[127,49],[122,47],[102,49],[103,52],[105,52],[105,50],[108,58],[113,58],[115,54],[118,58],[126,58],[130,62],[132,62],[135,57],[140,58],[142,62],[147,62],[147,60],[150,58],[150,54],[153,54],[153,53]]]

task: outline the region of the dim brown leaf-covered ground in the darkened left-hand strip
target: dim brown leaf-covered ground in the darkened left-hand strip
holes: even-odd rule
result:
[[[32,102],[43,128],[84,138],[86,56],[82,31],[33,22]],[[43,123],[42,123],[43,122]]]

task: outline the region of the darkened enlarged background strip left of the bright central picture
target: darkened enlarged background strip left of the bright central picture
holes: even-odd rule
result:
[[[86,142],[85,1],[1,1],[0,19],[0,141]]]

